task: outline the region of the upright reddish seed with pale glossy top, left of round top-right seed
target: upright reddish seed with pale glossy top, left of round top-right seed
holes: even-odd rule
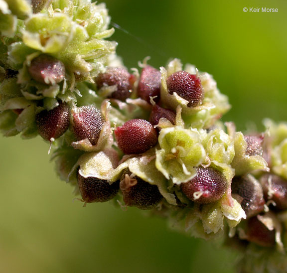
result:
[[[150,103],[149,97],[155,97],[153,101],[159,100],[161,74],[159,70],[147,65],[143,68],[140,82],[138,85],[138,96]]]

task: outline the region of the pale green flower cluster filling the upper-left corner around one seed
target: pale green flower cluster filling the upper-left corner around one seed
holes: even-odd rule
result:
[[[117,43],[105,40],[114,32],[109,23],[105,5],[91,0],[0,1],[0,129],[5,136],[36,136],[39,112],[59,101],[74,105],[76,94],[82,96],[77,84],[93,83],[117,61]],[[54,70],[45,73],[45,62]]]

